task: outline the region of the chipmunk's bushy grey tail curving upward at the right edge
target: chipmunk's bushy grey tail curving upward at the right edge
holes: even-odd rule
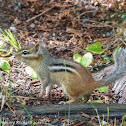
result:
[[[115,66],[113,72],[103,77],[103,79],[98,82],[99,87],[110,85],[122,76],[126,75],[126,49],[116,49],[114,52],[114,60]]]

